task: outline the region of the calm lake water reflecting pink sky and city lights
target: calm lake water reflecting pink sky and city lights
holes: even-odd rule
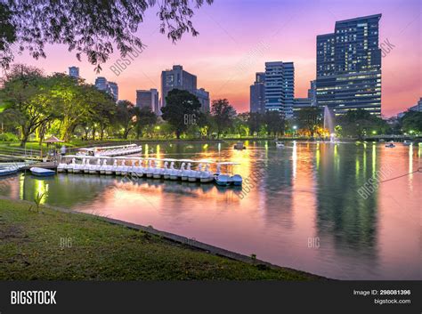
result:
[[[60,173],[40,180],[20,174],[3,180],[1,193],[196,238],[299,270],[343,279],[422,279],[421,181],[414,173],[380,183],[366,199],[357,190],[418,170],[421,147],[381,144],[246,142],[161,144],[149,157],[212,158],[241,163],[244,179],[260,170],[254,187],[217,189],[214,184]]]

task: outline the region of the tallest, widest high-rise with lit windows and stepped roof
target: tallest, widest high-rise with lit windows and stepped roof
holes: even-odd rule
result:
[[[317,36],[316,101],[336,115],[348,109],[381,114],[381,14],[336,22]]]

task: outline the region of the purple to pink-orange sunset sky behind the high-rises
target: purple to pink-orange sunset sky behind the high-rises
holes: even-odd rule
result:
[[[173,44],[158,31],[156,11],[150,9],[137,35],[146,49],[118,76],[110,66],[118,51],[102,65],[78,61],[64,45],[48,45],[46,59],[23,53],[15,58],[44,68],[45,73],[80,68],[86,82],[105,76],[118,83],[119,99],[135,101],[137,89],[160,89],[160,74],[173,65],[198,76],[198,88],[211,100],[226,98],[238,112],[249,109],[249,85],[265,61],[293,61],[295,97],[306,97],[316,72],[316,36],[332,33],[336,20],[382,13],[379,43],[391,45],[382,59],[382,114],[396,115],[422,97],[422,4],[418,0],[215,0],[195,12],[192,19],[199,36],[185,34]]]

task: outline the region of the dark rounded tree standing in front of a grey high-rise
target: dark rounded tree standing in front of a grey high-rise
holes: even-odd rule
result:
[[[198,117],[200,107],[198,97],[188,91],[174,89],[167,94],[162,118],[174,127],[178,140],[189,126],[185,117]]]

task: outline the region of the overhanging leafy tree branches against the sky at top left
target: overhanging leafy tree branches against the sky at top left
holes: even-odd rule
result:
[[[196,8],[213,0],[194,0]],[[135,35],[147,9],[158,5],[160,32],[173,42],[185,32],[199,33],[193,27],[191,2],[157,0],[20,0],[0,3],[0,63],[7,68],[13,59],[12,44],[20,51],[28,50],[38,59],[45,58],[45,44],[67,44],[76,51],[77,59],[85,54],[88,61],[101,70],[116,44],[122,57],[128,52],[142,51],[141,38]]]

